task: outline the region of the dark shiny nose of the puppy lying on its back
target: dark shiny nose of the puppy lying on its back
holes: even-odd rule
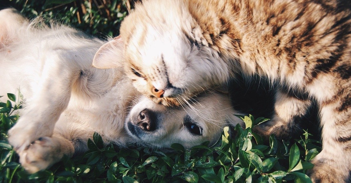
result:
[[[137,125],[144,131],[152,132],[156,129],[156,115],[148,109],[144,109],[138,115]]]

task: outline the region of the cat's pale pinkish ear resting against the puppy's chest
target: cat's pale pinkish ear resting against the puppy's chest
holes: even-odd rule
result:
[[[93,58],[93,66],[99,69],[120,67],[124,61],[124,45],[120,36],[102,45]]]

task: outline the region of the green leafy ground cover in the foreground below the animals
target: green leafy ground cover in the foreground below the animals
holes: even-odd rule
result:
[[[243,119],[246,129],[236,126],[237,135],[230,137],[224,128],[221,139],[213,147],[206,143],[184,149],[173,144],[173,152],[160,152],[147,147],[119,149],[104,146],[101,136],[94,134],[83,155],[64,159],[48,170],[27,174],[18,156],[6,141],[8,131],[18,120],[16,101],[0,103],[0,182],[311,182],[306,170],[320,150],[318,142],[303,133],[300,139],[283,141],[273,135],[269,143],[251,128],[267,119],[249,115]]]

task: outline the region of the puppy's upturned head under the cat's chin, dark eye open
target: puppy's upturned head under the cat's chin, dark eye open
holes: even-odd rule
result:
[[[207,92],[179,107],[165,107],[141,98],[126,119],[127,132],[143,145],[169,148],[180,143],[191,148],[209,141],[214,144],[225,126],[240,123],[227,96]],[[241,121],[242,122],[242,121]]]

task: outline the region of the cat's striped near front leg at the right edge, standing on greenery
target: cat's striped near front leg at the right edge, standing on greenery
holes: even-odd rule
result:
[[[310,93],[320,105],[322,126],[322,151],[312,160],[314,167],[310,171],[313,182],[351,181],[350,88],[350,80],[328,75],[320,76],[310,85]]]

